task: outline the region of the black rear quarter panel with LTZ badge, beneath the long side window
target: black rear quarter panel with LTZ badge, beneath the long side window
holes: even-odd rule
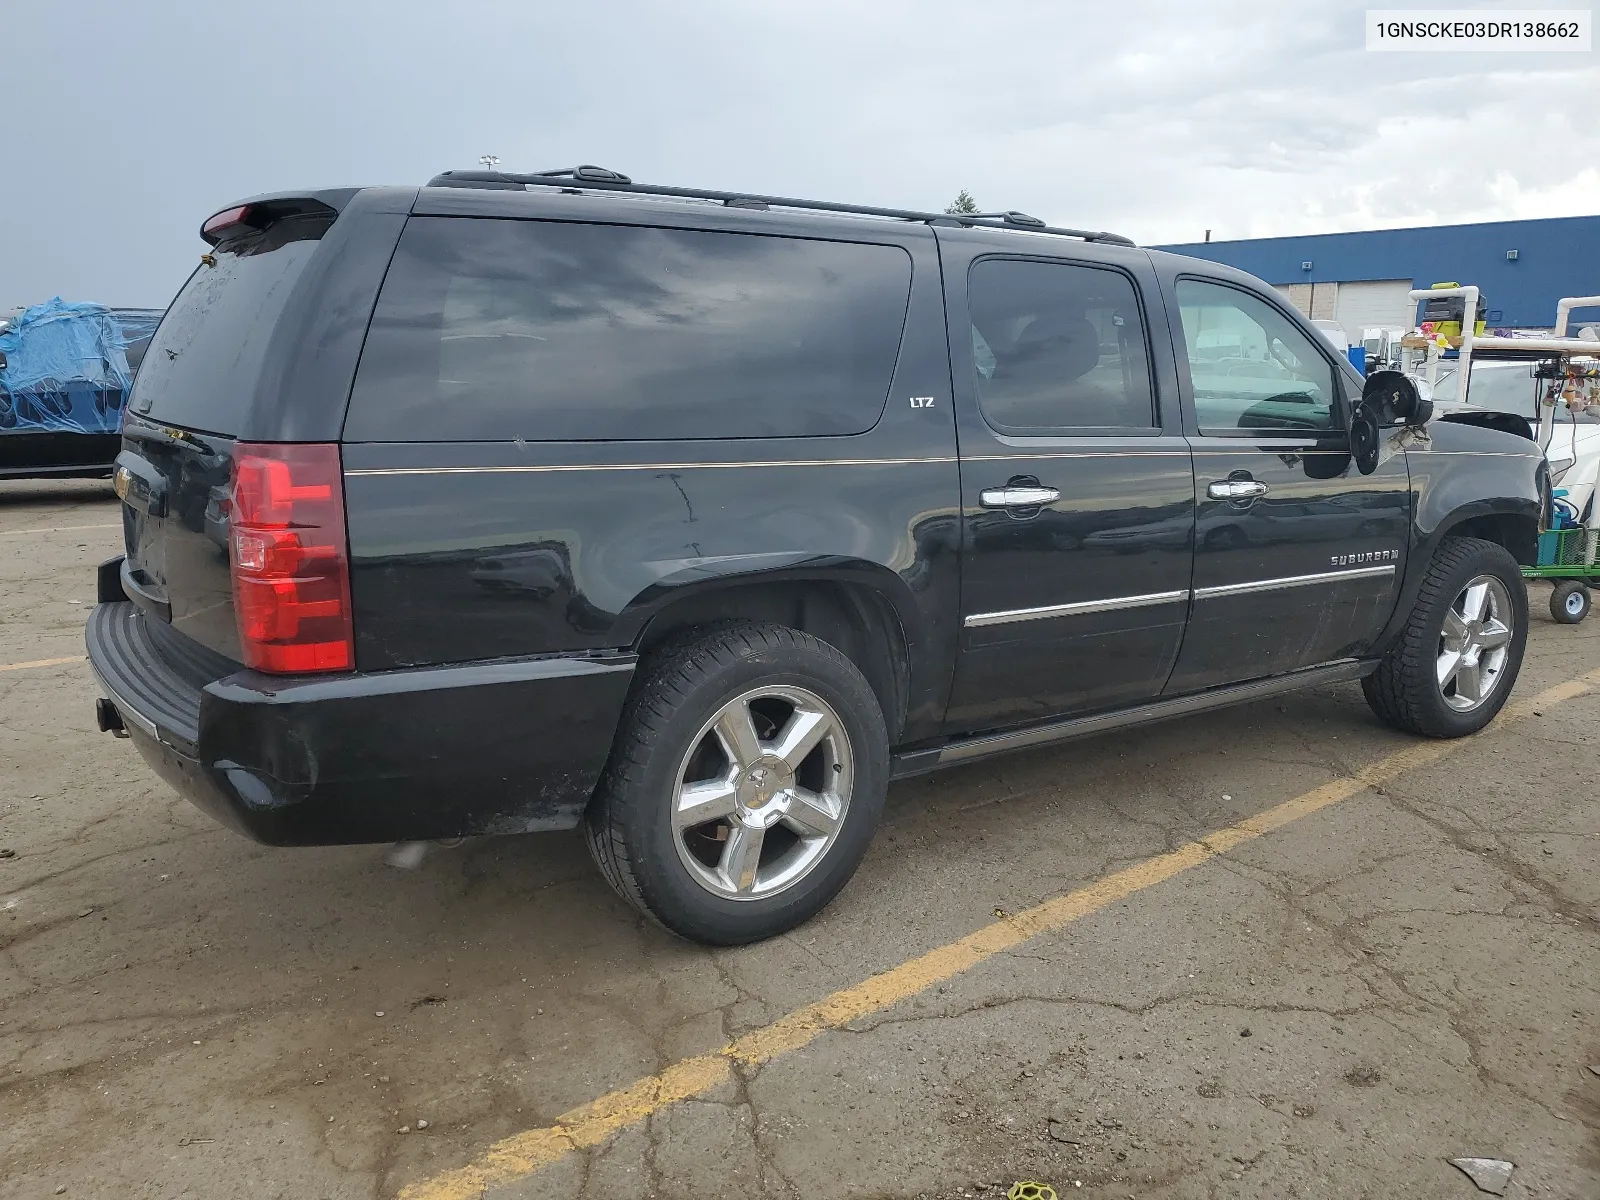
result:
[[[346,443],[358,667],[627,648],[691,592],[826,579],[893,605],[910,664],[904,734],[936,730],[960,483],[934,243],[901,245],[906,331],[864,434]]]

